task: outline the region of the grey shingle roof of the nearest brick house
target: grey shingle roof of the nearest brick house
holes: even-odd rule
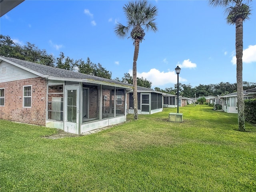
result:
[[[111,79],[105,79],[97,76],[92,76],[88,74],[78,73],[70,70],[60,69],[56,67],[46,66],[42,64],[37,64],[33,62],[28,62],[20,59],[15,58],[8,58],[4,56],[0,56],[0,59],[8,60],[10,62],[13,62],[16,64],[16,66],[21,66],[24,70],[29,70],[30,72],[36,72],[37,75],[42,77],[48,77],[48,78],[63,78],[66,80],[74,79],[78,81],[85,81],[85,80],[92,80],[92,81],[98,81],[98,82],[106,82],[108,84],[116,84],[116,85],[122,85],[122,86],[128,86],[130,88],[133,87],[131,84],[127,84],[124,82],[119,82],[116,80]]]

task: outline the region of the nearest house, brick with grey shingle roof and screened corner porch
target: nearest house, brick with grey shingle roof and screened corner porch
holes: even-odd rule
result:
[[[132,88],[115,80],[0,56],[0,119],[81,134],[126,121],[126,93]],[[145,110],[145,104],[140,107]]]

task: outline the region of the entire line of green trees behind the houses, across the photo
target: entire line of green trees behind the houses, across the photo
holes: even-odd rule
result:
[[[111,79],[112,72],[106,70],[100,63],[93,63],[88,57],[86,62],[82,59],[74,60],[68,56],[65,56],[63,52],[55,58],[52,54],[47,54],[46,50],[40,50],[35,44],[27,42],[24,46],[14,43],[9,36],[0,35],[0,55],[6,57],[17,58],[21,60],[26,60],[38,64],[43,64],[47,66],[62,68],[66,70],[77,71],[84,74],[89,74],[93,76],[98,76],[102,78]],[[129,73],[125,73],[122,78],[115,78],[114,80],[133,84],[133,78]],[[137,77],[137,85],[151,88],[152,82]],[[243,82],[244,90],[256,87],[256,83]],[[155,87],[154,90],[169,94],[177,94],[177,84],[174,88],[160,89]],[[236,92],[236,83],[230,84],[228,82],[220,82],[219,84],[200,84],[192,88],[190,84],[179,84],[179,95],[188,98],[194,98],[198,96],[218,96],[226,95]]]

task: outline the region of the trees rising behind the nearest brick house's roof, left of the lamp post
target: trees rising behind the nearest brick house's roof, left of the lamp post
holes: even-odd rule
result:
[[[86,62],[81,58],[74,60],[65,56],[63,52],[55,58],[52,54],[48,54],[46,50],[40,50],[35,44],[27,42],[21,46],[15,43],[10,36],[0,35],[0,55],[16,58],[20,60],[30,61],[42,65],[57,67],[61,69],[76,71],[84,74],[98,76],[111,79],[112,72],[106,70],[100,63],[93,63],[88,57]],[[132,84],[132,76],[125,73],[124,77],[114,80]],[[137,78],[138,86],[151,88],[152,82],[142,78]]]

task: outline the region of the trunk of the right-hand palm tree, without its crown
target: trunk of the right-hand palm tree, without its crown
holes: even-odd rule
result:
[[[243,90],[243,20],[236,20],[236,84],[238,101],[238,130],[245,131]]]

